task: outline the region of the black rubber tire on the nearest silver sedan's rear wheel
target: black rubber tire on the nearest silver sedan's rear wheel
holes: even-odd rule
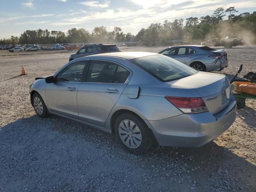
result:
[[[137,148],[130,148],[130,147],[126,146],[126,144],[124,144],[124,142],[121,140],[120,135],[119,135],[119,124],[123,120],[132,121],[138,126],[142,139],[140,140],[141,143]],[[128,128],[128,127],[126,127],[126,128]],[[152,147],[152,138],[150,136],[148,126],[146,125],[146,123],[143,120],[141,120],[140,118],[138,118],[137,116],[135,116],[133,114],[124,113],[124,114],[121,114],[120,116],[118,116],[116,118],[116,121],[115,121],[115,124],[114,124],[114,129],[115,129],[116,139],[118,140],[120,145],[130,153],[141,154],[141,153],[146,152],[148,149],[150,149]],[[130,131],[131,130],[132,129],[130,129]],[[136,133],[134,133],[134,135],[135,135],[134,138],[136,138]],[[130,145],[131,145],[131,138],[132,137],[133,136],[130,136],[130,135],[128,137],[128,133],[127,133],[127,138],[129,138],[128,143],[130,143]],[[128,141],[128,139],[127,139],[127,141]]]

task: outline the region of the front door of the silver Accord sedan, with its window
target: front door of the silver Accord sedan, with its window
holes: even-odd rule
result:
[[[46,84],[45,95],[50,112],[75,118],[78,116],[76,94],[88,60],[77,61],[63,68],[54,83]]]

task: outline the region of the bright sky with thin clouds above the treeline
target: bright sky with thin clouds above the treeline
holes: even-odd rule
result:
[[[0,39],[26,30],[67,32],[114,26],[136,35],[151,23],[212,15],[218,7],[234,6],[237,14],[256,11],[256,0],[0,0]]]

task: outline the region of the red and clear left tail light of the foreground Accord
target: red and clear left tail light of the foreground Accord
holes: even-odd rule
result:
[[[172,97],[165,96],[165,98],[174,104],[183,113],[203,113],[207,112],[204,100],[202,98],[191,98],[191,97]]]

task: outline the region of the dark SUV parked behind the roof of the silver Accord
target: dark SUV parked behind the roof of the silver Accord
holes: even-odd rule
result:
[[[119,48],[116,44],[91,44],[85,45],[80,50],[76,52],[76,54],[72,54],[69,57],[69,61],[84,57],[88,55],[100,54],[100,53],[110,53],[110,52],[120,52]]]

